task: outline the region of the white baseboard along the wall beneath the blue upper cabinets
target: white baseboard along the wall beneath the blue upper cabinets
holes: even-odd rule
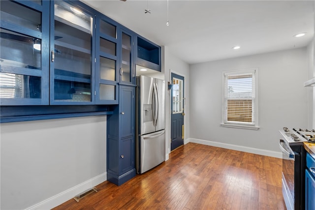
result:
[[[70,189],[67,189],[51,198],[48,198],[38,204],[33,205],[32,207],[27,208],[27,210],[47,210],[57,207],[64,202],[72,199],[76,195],[84,192],[87,189],[93,188],[96,185],[102,183],[107,180],[107,173],[100,174],[90,180],[87,180],[81,184],[78,184]]]

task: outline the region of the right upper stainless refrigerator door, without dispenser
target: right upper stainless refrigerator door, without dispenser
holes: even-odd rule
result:
[[[156,131],[165,129],[165,81],[155,79],[158,104],[156,115]]]

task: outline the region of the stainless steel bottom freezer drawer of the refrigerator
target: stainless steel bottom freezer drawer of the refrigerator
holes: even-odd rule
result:
[[[140,136],[140,174],[165,161],[165,130]],[[138,171],[138,170],[137,170]]]

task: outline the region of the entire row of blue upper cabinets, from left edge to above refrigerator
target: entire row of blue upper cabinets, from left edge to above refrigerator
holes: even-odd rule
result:
[[[77,0],[0,0],[0,105],[119,104],[160,47]]]

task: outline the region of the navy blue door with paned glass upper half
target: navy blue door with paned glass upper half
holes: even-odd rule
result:
[[[171,150],[184,145],[184,77],[174,74],[171,89]]]

